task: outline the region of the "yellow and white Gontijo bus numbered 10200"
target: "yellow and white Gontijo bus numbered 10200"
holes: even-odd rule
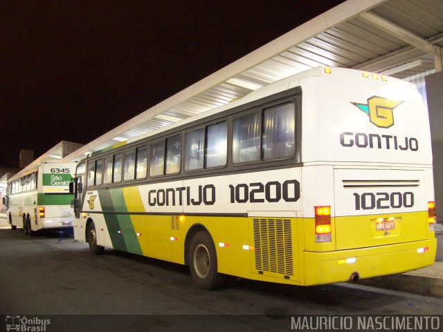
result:
[[[428,114],[414,85],[319,67],[80,161],[74,236],[226,275],[317,285],[432,265]]]

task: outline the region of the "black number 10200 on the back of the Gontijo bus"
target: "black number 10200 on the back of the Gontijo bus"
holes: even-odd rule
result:
[[[414,206],[414,193],[354,193],[356,210],[400,209]]]

